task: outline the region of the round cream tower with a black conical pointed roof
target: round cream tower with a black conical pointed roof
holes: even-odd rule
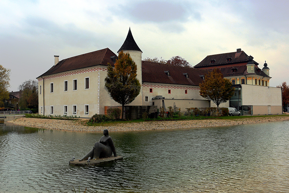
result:
[[[129,53],[130,57],[134,60],[137,66],[137,78],[140,81],[140,85],[142,85],[142,51],[134,41],[134,37],[131,34],[131,30],[129,27],[127,37],[121,48],[117,51],[123,51],[124,53]],[[136,97],[136,99],[129,105],[142,105],[142,87],[140,89],[140,94]]]

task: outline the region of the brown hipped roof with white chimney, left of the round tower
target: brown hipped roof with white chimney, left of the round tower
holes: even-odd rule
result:
[[[114,66],[114,61],[111,58],[113,56],[117,57],[116,54],[114,54],[109,48],[105,48],[97,50],[95,52],[90,52],[86,54],[81,54],[79,56],[66,58],[64,60],[61,60],[55,66],[52,66],[47,72],[40,75],[39,77],[97,65],[107,66],[108,63]]]

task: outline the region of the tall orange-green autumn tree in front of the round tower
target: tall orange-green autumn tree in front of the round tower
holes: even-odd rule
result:
[[[104,79],[105,90],[113,100],[122,105],[123,119],[123,107],[131,103],[140,93],[140,81],[136,78],[137,66],[129,53],[121,51],[114,68],[108,63],[107,71],[108,74]]]

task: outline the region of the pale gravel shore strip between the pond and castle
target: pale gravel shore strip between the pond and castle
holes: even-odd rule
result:
[[[18,118],[8,121],[13,124],[23,125],[28,127],[70,130],[70,131],[137,131],[137,130],[158,130],[158,129],[179,129],[179,128],[200,128],[200,127],[215,127],[228,126],[239,124],[251,124],[269,121],[289,120],[289,115],[274,116],[274,117],[248,117],[242,119],[230,120],[180,120],[180,121],[147,121],[137,123],[121,123],[113,126],[84,126],[87,119],[81,120],[55,120],[55,119],[36,119],[36,118]]]

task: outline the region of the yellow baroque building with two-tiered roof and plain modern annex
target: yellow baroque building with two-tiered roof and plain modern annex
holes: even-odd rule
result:
[[[234,107],[242,115],[282,114],[281,89],[269,87],[269,68],[265,61],[260,69],[253,57],[241,49],[209,55],[194,66],[197,69],[219,68],[235,87],[235,93],[221,106]],[[212,104],[214,106],[214,104]]]

